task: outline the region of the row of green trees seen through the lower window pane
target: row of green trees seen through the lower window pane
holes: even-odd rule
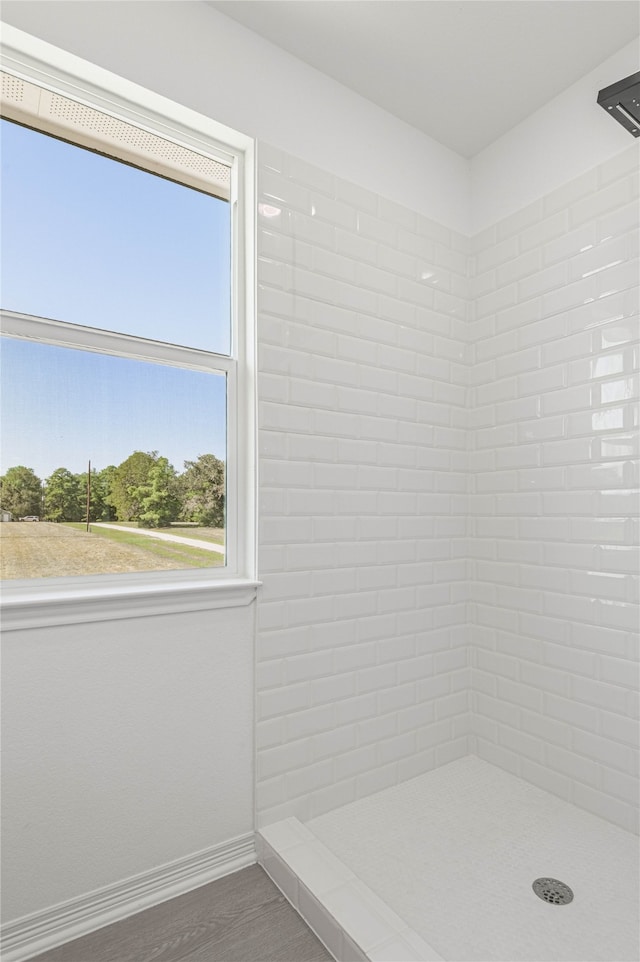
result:
[[[0,477],[0,506],[13,518],[44,521],[136,521],[159,528],[174,521],[224,527],[225,465],[213,454],[185,461],[178,474],[157,451],[134,451],[119,465],[74,474],[67,468],[45,479],[32,468]],[[87,518],[87,494],[89,517]]]

